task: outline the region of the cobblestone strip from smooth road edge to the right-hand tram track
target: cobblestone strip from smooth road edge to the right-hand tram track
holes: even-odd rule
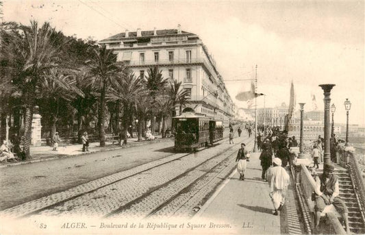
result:
[[[125,205],[129,201],[136,200],[138,197],[141,197],[141,195],[149,193],[153,188],[184,173],[184,170],[201,164],[207,156],[213,156],[215,151],[216,148],[206,149],[205,151],[190,155],[188,160],[173,161],[158,168],[135,175],[136,173],[145,171],[157,164],[180,158],[181,156],[184,156],[184,153],[168,156],[167,158],[162,158],[158,161],[149,162],[128,171],[122,171],[108,177],[103,177],[99,180],[94,180],[48,197],[23,203],[14,208],[4,210],[2,213],[19,216],[24,213],[37,212],[37,210],[40,210],[45,206],[52,206],[49,210],[40,212],[40,215],[87,214],[103,216],[117,210],[121,205]],[[116,183],[112,184],[113,182]],[[104,187],[98,189],[101,186]],[[75,197],[75,199],[72,201],[65,201],[70,197]],[[58,205],[54,207],[53,205],[55,203],[58,203]]]

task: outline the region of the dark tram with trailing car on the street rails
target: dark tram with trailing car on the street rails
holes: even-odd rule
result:
[[[193,151],[223,139],[223,123],[195,112],[173,117],[175,150]]]

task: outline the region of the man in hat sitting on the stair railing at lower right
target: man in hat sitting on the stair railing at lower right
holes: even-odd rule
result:
[[[333,175],[335,166],[333,164],[325,164],[325,171],[321,177],[316,177],[317,190],[316,192],[316,227],[319,225],[320,214],[322,214],[325,206],[332,204],[338,213],[341,214],[346,225],[347,233],[350,233],[349,228],[349,210],[344,201],[338,197],[340,188],[338,186],[338,177]]]

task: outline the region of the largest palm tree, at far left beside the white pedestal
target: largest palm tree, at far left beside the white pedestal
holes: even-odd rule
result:
[[[16,30],[2,32],[3,41],[1,53],[3,59],[2,69],[8,71],[4,79],[12,79],[13,84],[22,93],[25,106],[25,134],[24,152],[25,158],[30,159],[29,147],[32,138],[32,117],[36,101],[37,86],[46,71],[56,66],[60,54],[62,34],[44,23],[38,27],[36,21],[31,21],[30,26],[19,25]],[[3,40],[4,39],[4,40]],[[57,43],[56,43],[57,42]],[[5,65],[4,65],[5,64]]]

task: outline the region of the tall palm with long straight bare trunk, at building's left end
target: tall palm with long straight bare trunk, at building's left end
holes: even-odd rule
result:
[[[94,49],[91,60],[87,61],[90,83],[100,94],[98,127],[100,146],[105,146],[105,95],[110,86],[124,69],[121,62],[116,62],[116,55],[105,46]]]

